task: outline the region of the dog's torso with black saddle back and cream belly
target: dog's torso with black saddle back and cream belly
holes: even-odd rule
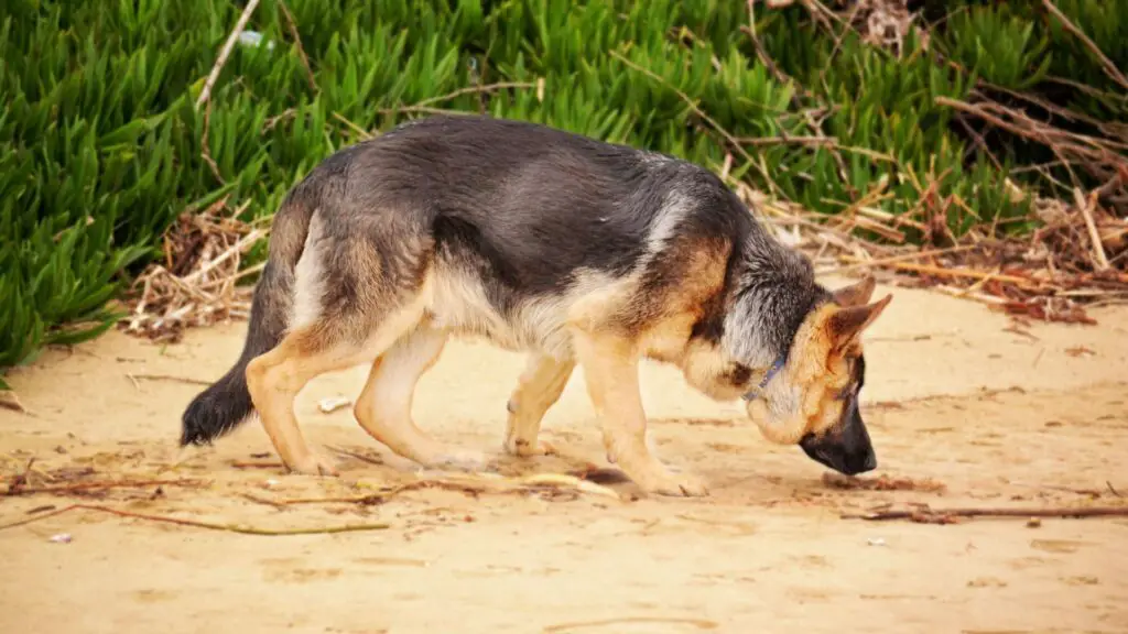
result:
[[[506,347],[566,354],[561,328],[592,293],[622,308],[598,318],[640,326],[629,322],[661,310],[640,293],[678,283],[702,248],[758,230],[698,166],[522,122],[432,117],[346,152],[315,222],[337,254],[319,303],[346,299],[334,285],[374,283],[368,252],[385,283],[430,285],[437,325]]]

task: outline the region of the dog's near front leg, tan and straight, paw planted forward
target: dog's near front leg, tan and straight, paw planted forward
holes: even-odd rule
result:
[[[628,340],[582,331],[573,334],[576,360],[603,430],[607,458],[646,493],[706,495],[696,477],[673,473],[646,447],[646,414],[638,390],[638,355]]]

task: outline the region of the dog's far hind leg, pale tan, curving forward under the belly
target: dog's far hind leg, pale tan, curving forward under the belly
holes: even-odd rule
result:
[[[481,470],[485,454],[440,442],[412,421],[416,385],[439,360],[447,337],[426,326],[404,335],[372,363],[353,414],[364,431],[404,458],[428,467]]]

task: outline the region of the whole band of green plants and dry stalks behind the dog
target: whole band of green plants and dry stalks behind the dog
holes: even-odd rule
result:
[[[287,190],[435,112],[686,158],[1012,314],[1128,287],[1128,0],[9,0],[0,51],[0,368],[238,316]]]

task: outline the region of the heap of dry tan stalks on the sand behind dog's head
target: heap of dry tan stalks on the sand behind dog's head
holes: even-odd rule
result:
[[[985,224],[960,238],[935,236],[948,246],[931,247],[928,239],[909,244],[908,231],[927,230],[909,214],[874,209],[828,217],[773,200],[746,183],[729,184],[777,237],[808,254],[819,274],[865,271],[884,284],[928,288],[1028,320],[1093,325],[1087,306],[1128,302],[1128,219],[1110,212],[1098,214],[1098,231],[1120,250],[1109,256],[1109,268],[1100,270],[1082,214],[1064,201],[1036,202],[1042,227],[1028,238],[999,238],[994,226]],[[855,229],[884,241],[862,239]]]

